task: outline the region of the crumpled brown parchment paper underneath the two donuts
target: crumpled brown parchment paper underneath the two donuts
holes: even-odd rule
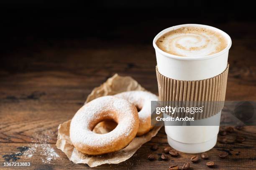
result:
[[[89,102],[97,97],[105,95],[115,95],[119,92],[131,91],[131,90],[144,90],[141,85],[138,84],[136,80],[131,77],[122,77],[118,74],[115,74],[113,77],[110,77],[106,82],[104,82],[99,87],[95,87],[94,90],[88,95],[86,102]],[[151,131],[145,135],[135,137],[132,142],[123,148],[114,153],[108,153],[99,156],[88,156],[79,152],[74,146],[69,138],[69,125],[70,121],[61,123],[58,128],[58,139],[56,142],[57,148],[62,150],[69,160],[74,163],[86,163],[90,167],[96,167],[102,164],[117,164],[128,160],[131,156],[138,150],[141,145],[148,142],[153,138],[161,126],[154,127]],[[101,126],[96,126],[94,131],[97,133],[107,133],[108,131]]]

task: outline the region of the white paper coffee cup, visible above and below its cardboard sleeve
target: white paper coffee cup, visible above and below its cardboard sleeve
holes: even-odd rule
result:
[[[156,40],[161,35],[181,27],[195,26],[220,33],[227,40],[227,47],[215,54],[202,57],[180,57],[159,49]],[[205,80],[222,73],[228,64],[228,50],[231,47],[231,38],[222,30],[199,24],[184,24],[167,28],[161,31],[153,40],[156,50],[156,61],[159,73],[183,81]],[[215,115],[220,118],[220,113]],[[201,153],[213,148],[217,141],[219,126],[165,126],[169,145],[184,153]]]

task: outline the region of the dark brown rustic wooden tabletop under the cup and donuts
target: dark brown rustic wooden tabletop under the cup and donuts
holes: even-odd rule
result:
[[[239,31],[246,32],[244,37],[239,36],[238,30],[232,29],[237,23],[217,26],[227,31],[233,40],[229,52],[226,100],[255,101],[256,38],[248,33],[250,31],[246,32],[249,28],[255,32],[255,24],[240,27]],[[158,93],[156,58],[151,42],[131,44],[94,38],[36,42],[31,47],[5,53],[0,66],[0,169],[18,168],[3,166],[7,162],[5,159],[19,153],[19,147],[31,148],[41,143],[49,144],[60,157],[44,163],[42,160],[46,156],[41,152],[31,157],[18,154],[16,157],[20,159],[16,162],[31,163],[23,169],[89,169],[87,165],[72,163],[56,148],[58,125],[71,119],[92,89],[115,73],[131,76],[147,90]],[[227,138],[233,141],[238,134],[246,138],[243,143],[218,142],[207,152],[209,160],[191,163],[192,169],[207,169],[205,163],[208,161],[216,163],[215,169],[255,169],[256,128],[250,126],[241,131],[235,130]],[[152,145],[159,145],[159,149],[151,151]],[[190,162],[192,155],[185,153],[168,161],[148,161],[148,154],[153,153],[158,158],[167,145],[164,128],[161,128],[156,137],[144,144],[132,158],[117,165],[101,165],[93,169],[160,170]],[[227,158],[218,157],[221,150],[229,153]]]

